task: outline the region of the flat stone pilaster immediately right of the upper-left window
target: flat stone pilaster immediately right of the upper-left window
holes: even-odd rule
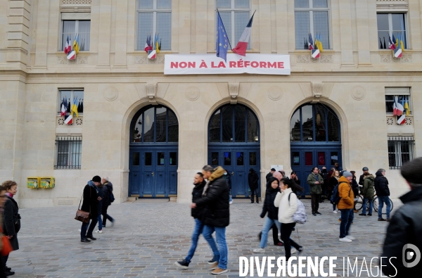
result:
[[[97,67],[108,68],[110,67],[111,0],[101,0],[100,3]]]

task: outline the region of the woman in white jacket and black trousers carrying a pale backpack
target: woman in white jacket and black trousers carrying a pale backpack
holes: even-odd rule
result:
[[[303,246],[300,246],[293,241],[293,239],[290,239],[290,235],[296,225],[295,220],[293,220],[293,215],[296,213],[296,210],[298,210],[298,197],[293,192],[298,190],[297,188],[293,189],[293,187],[296,186],[297,185],[292,182],[291,179],[283,177],[280,181],[281,191],[277,193],[274,200],[274,206],[279,208],[281,240],[284,243],[286,261],[288,261],[291,256],[292,246],[298,251],[298,255],[303,251]]]

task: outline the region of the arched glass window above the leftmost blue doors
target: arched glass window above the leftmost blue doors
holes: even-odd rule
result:
[[[165,106],[146,106],[131,122],[131,143],[176,143],[179,122],[174,112]]]

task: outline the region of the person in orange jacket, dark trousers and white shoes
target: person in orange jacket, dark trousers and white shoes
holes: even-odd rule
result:
[[[351,172],[343,172],[343,176],[338,179],[338,201],[337,208],[341,213],[340,223],[340,241],[352,242],[354,236],[350,236],[349,229],[353,222],[353,206],[354,206],[354,194],[351,186],[353,175]]]

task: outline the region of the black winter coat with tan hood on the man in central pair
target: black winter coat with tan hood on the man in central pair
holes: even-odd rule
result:
[[[203,197],[195,201],[196,206],[204,206],[203,223],[213,227],[227,227],[230,222],[229,187],[220,166],[212,173],[204,187]]]

